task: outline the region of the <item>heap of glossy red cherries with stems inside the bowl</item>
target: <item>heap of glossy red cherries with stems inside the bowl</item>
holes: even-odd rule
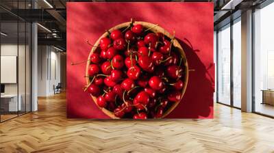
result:
[[[88,59],[86,91],[116,117],[162,117],[184,87],[184,59],[173,38],[134,23],[108,33]]]

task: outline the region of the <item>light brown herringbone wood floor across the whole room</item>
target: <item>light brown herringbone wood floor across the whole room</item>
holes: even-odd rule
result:
[[[274,120],[215,105],[214,120],[66,119],[66,95],[0,124],[0,152],[274,152]]]

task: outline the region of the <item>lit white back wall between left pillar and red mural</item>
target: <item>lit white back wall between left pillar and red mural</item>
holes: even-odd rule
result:
[[[60,83],[60,53],[52,46],[38,46],[38,96],[54,94]]]

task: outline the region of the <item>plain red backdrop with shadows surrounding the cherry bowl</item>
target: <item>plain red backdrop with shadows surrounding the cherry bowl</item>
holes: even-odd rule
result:
[[[182,102],[167,118],[212,118],[214,93],[213,3],[67,3],[67,116],[109,118],[83,92],[90,46],[120,23],[135,20],[159,24],[175,31],[190,69],[188,87]]]

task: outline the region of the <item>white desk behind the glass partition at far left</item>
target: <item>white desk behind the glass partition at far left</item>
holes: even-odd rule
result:
[[[18,105],[17,105],[17,94],[3,94],[1,95],[1,109],[4,111],[21,111],[21,94],[18,95]]]

